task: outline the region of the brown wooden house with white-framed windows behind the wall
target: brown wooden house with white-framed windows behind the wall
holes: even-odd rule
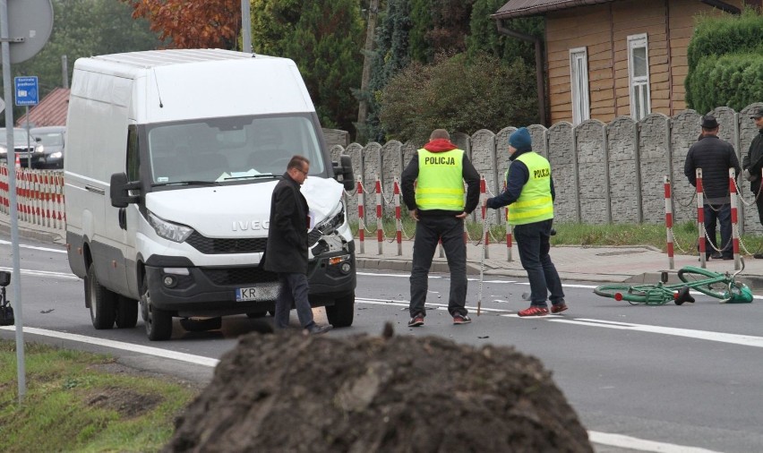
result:
[[[608,123],[621,115],[638,120],[684,110],[695,15],[739,13],[742,2],[510,0],[493,19],[501,29],[504,19],[544,16],[546,78],[539,92],[548,93],[546,122]]]

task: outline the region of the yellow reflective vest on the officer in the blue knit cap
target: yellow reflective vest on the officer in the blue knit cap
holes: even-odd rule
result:
[[[527,166],[530,177],[522,187],[519,199],[509,205],[506,220],[510,225],[525,225],[553,218],[551,198],[551,165],[540,154],[530,151],[516,160]],[[509,170],[506,170],[509,175]]]

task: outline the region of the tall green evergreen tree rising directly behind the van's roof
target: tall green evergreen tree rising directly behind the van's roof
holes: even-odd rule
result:
[[[257,53],[295,61],[321,124],[353,130],[363,71],[364,27],[357,0],[253,0]]]

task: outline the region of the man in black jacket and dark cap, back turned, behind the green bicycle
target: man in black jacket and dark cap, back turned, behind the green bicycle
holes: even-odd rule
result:
[[[733,260],[729,168],[739,176],[742,169],[733,145],[718,138],[716,117],[702,117],[702,136],[686,155],[683,174],[697,186],[697,168],[702,169],[705,214],[705,257]],[[716,222],[721,224],[721,247],[716,243]],[[718,252],[720,251],[720,252]]]

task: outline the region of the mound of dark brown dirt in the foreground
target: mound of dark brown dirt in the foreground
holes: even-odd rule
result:
[[[593,451],[534,357],[444,338],[249,334],[165,451]]]

